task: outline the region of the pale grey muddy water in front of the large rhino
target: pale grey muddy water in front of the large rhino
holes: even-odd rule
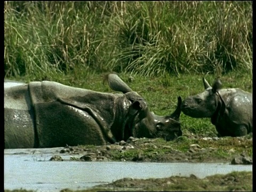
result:
[[[147,179],[195,174],[204,178],[232,171],[252,171],[252,165],[221,163],[55,162],[49,159],[58,150],[50,150],[5,149],[4,188],[54,192],[63,188],[85,189],[125,177]],[[70,155],[58,155],[70,158]]]

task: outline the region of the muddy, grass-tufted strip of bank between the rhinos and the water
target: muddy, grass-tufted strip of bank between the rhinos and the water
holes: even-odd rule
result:
[[[134,162],[221,162],[252,164],[252,135],[225,138],[179,137],[163,139],[129,138],[106,146],[66,146],[51,161],[63,161],[61,154],[80,155],[70,161]],[[65,160],[66,161],[66,160]]]

